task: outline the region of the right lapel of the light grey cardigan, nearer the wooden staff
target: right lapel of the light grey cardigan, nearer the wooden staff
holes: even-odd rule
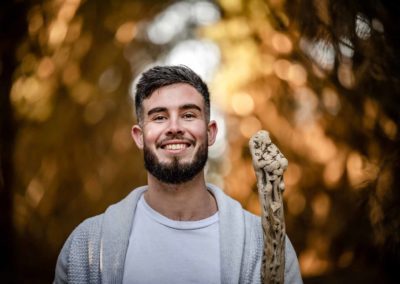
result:
[[[217,200],[220,216],[221,283],[239,283],[245,241],[243,210],[221,189],[212,184],[207,187]]]

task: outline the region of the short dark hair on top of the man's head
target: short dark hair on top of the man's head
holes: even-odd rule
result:
[[[185,83],[195,88],[204,98],[205,115],[210,120],[210,93],[206,83],[192,69],[187,66],[155,66],[142,74],[136,85],[135,108],[137,120],[143,118],[143,100],[149,98],[153,92],[161,87]]]

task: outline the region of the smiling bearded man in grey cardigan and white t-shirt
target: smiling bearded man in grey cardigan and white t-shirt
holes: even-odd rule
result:
[[[157,66],[135,100],[148,184],[74,230],[55,282],[260,283],[260,217],[205,183],[217,135],[206,84],[187,67]],[[285,255],[285,282],[302,283],[289,239]]]

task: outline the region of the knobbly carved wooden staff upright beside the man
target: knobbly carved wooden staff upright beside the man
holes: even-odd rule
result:
[[[262,207],[264,251],[261,280],[264,284],[283,284],[286,232],[282,194],[285,189],[283,172],[288,160],[271,142],[267,131],[257,132],[250,139],[249,146]]]

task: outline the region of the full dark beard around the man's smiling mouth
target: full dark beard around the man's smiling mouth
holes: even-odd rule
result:
[[[144,166],[159,181],[168,184],[181,184],[193,179],[206,165],[208,145],[203,144],[198,149],[192,162],[183,163],[178,157],[171,162],[160,162],[150,148],[144,145]]]

